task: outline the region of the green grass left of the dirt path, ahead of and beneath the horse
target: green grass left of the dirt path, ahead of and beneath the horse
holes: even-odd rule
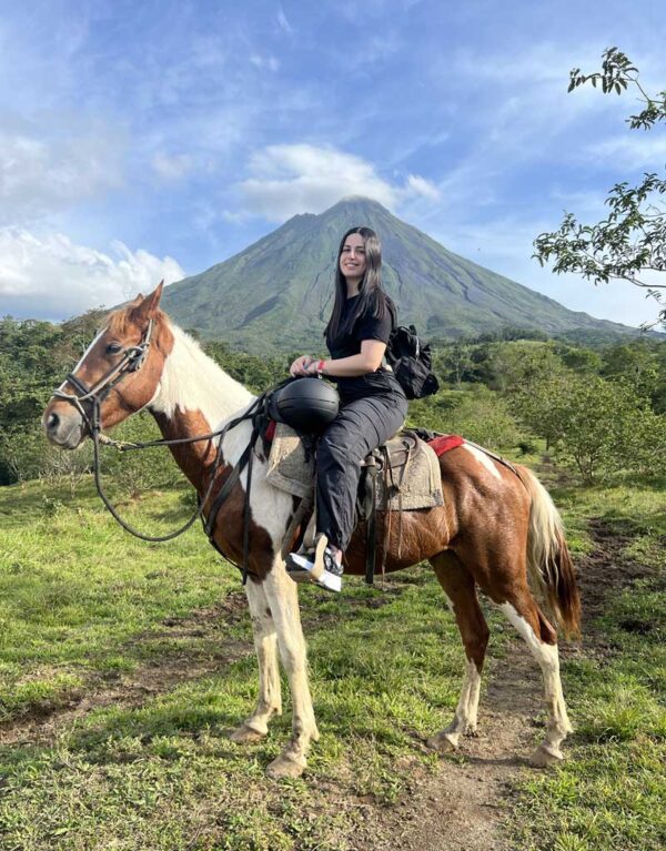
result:
[[[160,497],[164,525],[180,502]],[[151,505],[124,511],[160,528]],[[0,492],[0,518],[6,725],[57,717],[170,659],[183,675],[139,705],[121,692],[118,703],[65,721],[52,740],[0,748],[2,847],[345,848],[360,819],[350,802],[394,802],[411,783],[401,758],[432,767],[421,739],[455,706],[463,651],[430,573],[405,573],[385,594],[352,581],[343,599],[303,595],[323,736],[307,778],[276,784],[265,767],[290,735],[286,685],[285,716],[265,742],[228,739],[256,695],[246,611],[202,635],[178,630],[179,617],[196,627],[198,611],[240,591],[236,571],[201,533],[161,547],[135,541],[92,492],[72,502],[39,484]],[[248,655],[225,660],[225,647],[239,644]],[[215,655],[219,673],[184,676]],[[327,803],[331,783],[347,800],[339,812]]]

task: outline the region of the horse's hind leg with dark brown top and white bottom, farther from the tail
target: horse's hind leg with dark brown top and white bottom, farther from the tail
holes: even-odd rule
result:
[[[430,748],[451,751],[458,747],[461,736],[476,730],[481,671],[490,630],[478,605],[474,577],[457,556],[451,551],[441,553],[431,559],[431,564],[455,615],[467,657],[453,721],[427,741]]]

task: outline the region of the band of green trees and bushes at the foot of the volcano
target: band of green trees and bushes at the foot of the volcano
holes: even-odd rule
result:
[[[93,311],[60,325],[0,321],[0,485],[61,475],[74,480],[89,472],[89,450],[48,446],[40,417],[101,318]],[[254,393],[282,381],[300,354],[266,358],[222,341],[202,345]],[[408,425],[462,434],[517,458],[543,450],[582,484],[666,473],[666,343],[657,335],[593,348],[506,328],[440,341],[434,364],[441,391],[412,403]],[[119,434],[137,439],[154,430],[143,415]],[[167,480],[174,475],[163,457],[163,464],[137,455],[109,463],[131,496],[161,484],[149,480],[149,470]]]

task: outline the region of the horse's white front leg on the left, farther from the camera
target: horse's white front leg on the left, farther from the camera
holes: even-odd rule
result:
[[[245,595],[259,661],[259,698],[254,712],[233,731],[231,739],[236,742],[256,742],[268,733],[271,717],[282,715],[278,634],[263,585],[249,579],[245,585]]]

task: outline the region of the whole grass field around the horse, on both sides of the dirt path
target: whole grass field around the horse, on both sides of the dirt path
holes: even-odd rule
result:
[[[666,843],[664,488],[553,493],[586,610],[583,644],[563,654],[576,733],[556,771],[511,768],[512,789],[494,801],[495,847],[656,851]],[[159,530],[189,503],[176,490],[123,510]],[[114,525],[90,484],[75,499],[39,483],[2,488],[0,589],[3,851],[412,848],[382,844],[394,813],[412,802],[418,818],[423,790],[473,761],[474,743],[450,758],[423,744],[450,719],[464,659],[425,568],[384,589],[350,580],[341,597],[302,594],[322,740],[307,773],[281,782],[264,769],[289,736],[289,701],[262,743],[228,739],[255,697],[250,620],[238,573],[199,529],[148,545]],[[488,617],[492,689],[522,649]],[[482,727],[485,709],[482,697]]]

